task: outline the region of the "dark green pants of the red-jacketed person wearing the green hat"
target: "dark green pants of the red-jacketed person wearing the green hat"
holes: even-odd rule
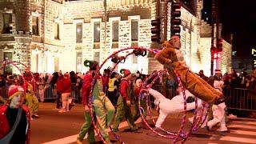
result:
[[[94,138],[94,126],[92,125],[91,122],[91,117],[90,117],[90,112],[85,112],[85,120],[82,124],[82,127],[80,129],[80,132],[78,134],[78,140],[82,142],[83,138],[85,138],[86,134],[88,133],[87,140],[89,143],[94,143],[95,138]]]

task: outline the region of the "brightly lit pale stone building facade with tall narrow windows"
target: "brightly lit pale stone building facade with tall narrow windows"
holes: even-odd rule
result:
[[[210,74],[210,37],[203,37],[210,26],[201,20],[202,0],[194,1],[194,14],[181,8],[181,50],[191,70],[202,69]],[[164,1],[160,5],[162,16]],[[151,42],[151,20],[157,17],[157,7],[156,0],[0,0],[0,60],[23,62],[39,73],[86,72],[85,59],[102,63],[114,51],[127,46],[160,48]],[[167,9],[168,39],[170,3]],[[123,51],[118,55],[126,54]],[[222,57],[220,68],[225,72],[230,70],[230,44],[224,46],[222,54],[225,58]],[[109,60],[104,67],[113,65]],[[162,69],[154,58],[134,55],[119,64],[117,70],[128,67],[143,74]],[[13,71],[17,72],[15,68]]]

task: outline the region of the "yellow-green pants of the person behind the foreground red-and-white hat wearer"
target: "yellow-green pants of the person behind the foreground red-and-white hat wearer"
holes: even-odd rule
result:
[[[26,93],[26,106],[29,108],[31,116],[38,114],[39,102],[34,93]]]

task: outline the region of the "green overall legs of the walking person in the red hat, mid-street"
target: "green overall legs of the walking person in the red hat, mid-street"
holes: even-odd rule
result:
[[[123,102],[122,96],[119,96],[117,114],[114,118],[113,130],[118,130],[118,126],[120,122],[122,122],[123,118],[126,118],[128,125],[130,126],[130,129],[133,129],[135,127],[134,118],[133,115],[131,114],[130,106],[127,106],[126,102]]]

